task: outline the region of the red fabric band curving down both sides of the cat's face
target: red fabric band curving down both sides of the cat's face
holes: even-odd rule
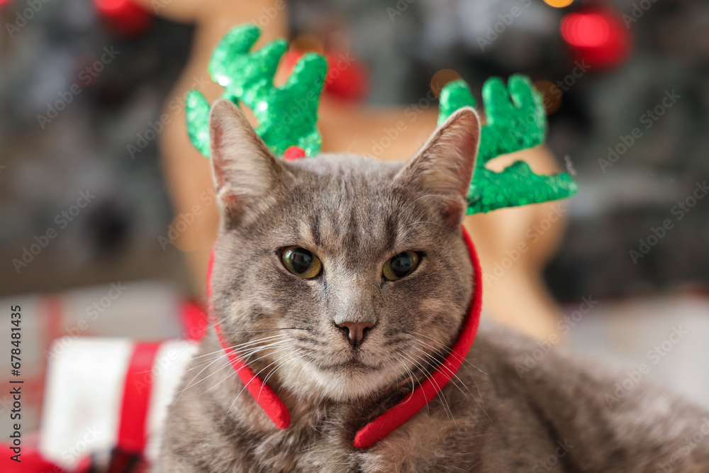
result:
[[[414,389],[409,396],[406,396],[406,399],[403,399],[403,401],[399,404],[381,414],[381,416],[374,419],[374,421],[364,425],[364,427],[357,432],[357,435],[354,436],[354,446],[357,448],[367,448],[374,445],[374,443],[378,442],[382,438],[385,438],[400,425],[408,421],[408,419],[413,417],[415,413],[418,413],[423,406],[428,404],[430,400],[433,399],[441,391],[441,389],[443,389],[443,386],[450,382],[470,351],[470,347],[475,340],[475,335],[480,321],[480,311],[482,309],[483,300],[483,284],[482,271],[480,268],[478,255],[475,251],[475,246],[473,245],[470,235],[468,235],[465,228],[461,228],[463,232],[463,239],[468,249],[470,262],[473,266],[474,283],[473,296],[470,301],[468,316],[463,323],[460,335],[458,335],[458,339],[451,348],[450,354],[447,355],[445,360],[443,360],[441,365],[431,374],[430,377],[425,379],[425,381]],[[212,318],[214,318],[211,306],[211,275],[213,267],[214,252],[212,252],[211,257],[209,258],[209,266],[207,269],[207,296],[208,300],[210,300],[209,313],[212,314]],[[281,401],[272,387],[265,384],[262,379],[257,377],[250,367],[240,360],[234,350],[228,347],[216,318],[214,318],[214,321],[219,342],[223,350],[226,352],[232,367],[237,372],[242,383],[246,386],[247,391],[251,393],[257,404],[261,406],[267,416],[271,418],[273,423],[279,429],[288,428],[291,424],[291,413],[288,411],[288,408],[286,408],[286,405],[283,401]]]

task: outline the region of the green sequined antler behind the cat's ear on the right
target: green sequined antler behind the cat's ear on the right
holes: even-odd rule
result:
[[[524,161],[515,161],[502,172],[487,168],[495,157],[544,143],[547,119],[542,96],[533,89],[528,77],[510,77],[509,93],[500,79],[489,79],[483,85],[483,102],[487,123],[482,127],[470,184],[468,214],[539,204],[576,194],[576,182],[566,173],[535,174]],[[465,82],[450,82],[441,91],[438,123],[462,106],[475,107],[475,99]]]

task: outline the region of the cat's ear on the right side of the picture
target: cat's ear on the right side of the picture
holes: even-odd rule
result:
[[[433,132],[428,142],[396,174],[396,181],[440,195],[445,223],[453,228],[465,216],[470,181],[480,143],[480,119],[471,107],[462,107]]]

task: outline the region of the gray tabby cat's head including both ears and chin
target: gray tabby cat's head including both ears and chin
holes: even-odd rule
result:
[[[408,164],[280,162],[227,101],[213,107],[211,136],[213,310],[262,378],[355,399],[446,355],[471,298],[459,228],[479,137],[471,109]]]

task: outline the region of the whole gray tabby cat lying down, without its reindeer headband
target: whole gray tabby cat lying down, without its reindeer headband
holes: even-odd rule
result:
[[[281,162],[225,100],[210,133],[213,313],[292,422],[279,430],[243,392],[212,330],[158,472],[709,472],[709,413],[642,380],[609,401],[620,377],[553,350],[519,372],[537,346],[494,327],[428,406],[354,447],[447,355],[467,313],[460,223],[478,117],[460,109],[406,163]]]

